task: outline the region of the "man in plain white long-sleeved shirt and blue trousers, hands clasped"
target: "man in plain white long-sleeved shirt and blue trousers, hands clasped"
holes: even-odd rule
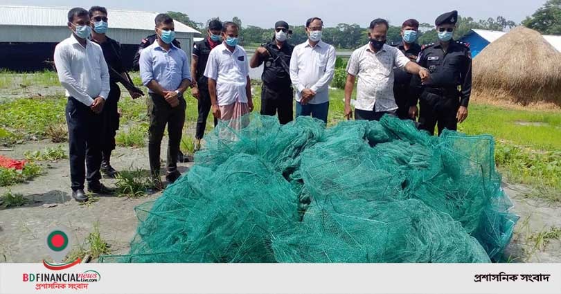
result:
[[[296,45],[290,59],[290,80],[296,89],[296,116],[312,116],[327,123],[329,84],[335,73],[335,48],[321,41],[323,21],[306,21],[308,40]]]

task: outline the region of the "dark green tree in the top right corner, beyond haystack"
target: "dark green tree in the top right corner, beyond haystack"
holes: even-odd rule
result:
[[[549,0],[522,25],[546,35],[561,35],[561,0]]]

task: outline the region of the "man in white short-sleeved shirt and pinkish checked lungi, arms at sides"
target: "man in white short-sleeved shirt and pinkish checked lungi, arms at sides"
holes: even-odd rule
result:
[[[208,77],[213,116],[229,120],[231,127],[242,127],[240,118],[253,111],[247,54],[238,46],[238,25],[227,21],[222,26],[224,42],[211,50],[204,70]]]

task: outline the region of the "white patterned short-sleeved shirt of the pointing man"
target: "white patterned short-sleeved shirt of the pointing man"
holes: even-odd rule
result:
[[[347,73],[358,76],[355,109],[398,109],[393,96],[393,68],[404,69],[408,62],[409,58],[405,57],[401,50],[386,44],[377,53],[370,48],[370,43],[353,51],[348,60]]]

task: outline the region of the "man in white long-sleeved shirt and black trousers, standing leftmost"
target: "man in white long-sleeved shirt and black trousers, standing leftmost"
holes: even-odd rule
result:
[[[109,71],[101,47],[87,39],[91,33],[89,12],[72,8],[68,12],[68,27],[72,35],[57,44],[54,59],[58,79],[68,97],[66,122],[72,196],[82,202],[88,199],[84,194],[84,179],[91,192],[112,192],[100,183],[100,113],[109,94]]]

